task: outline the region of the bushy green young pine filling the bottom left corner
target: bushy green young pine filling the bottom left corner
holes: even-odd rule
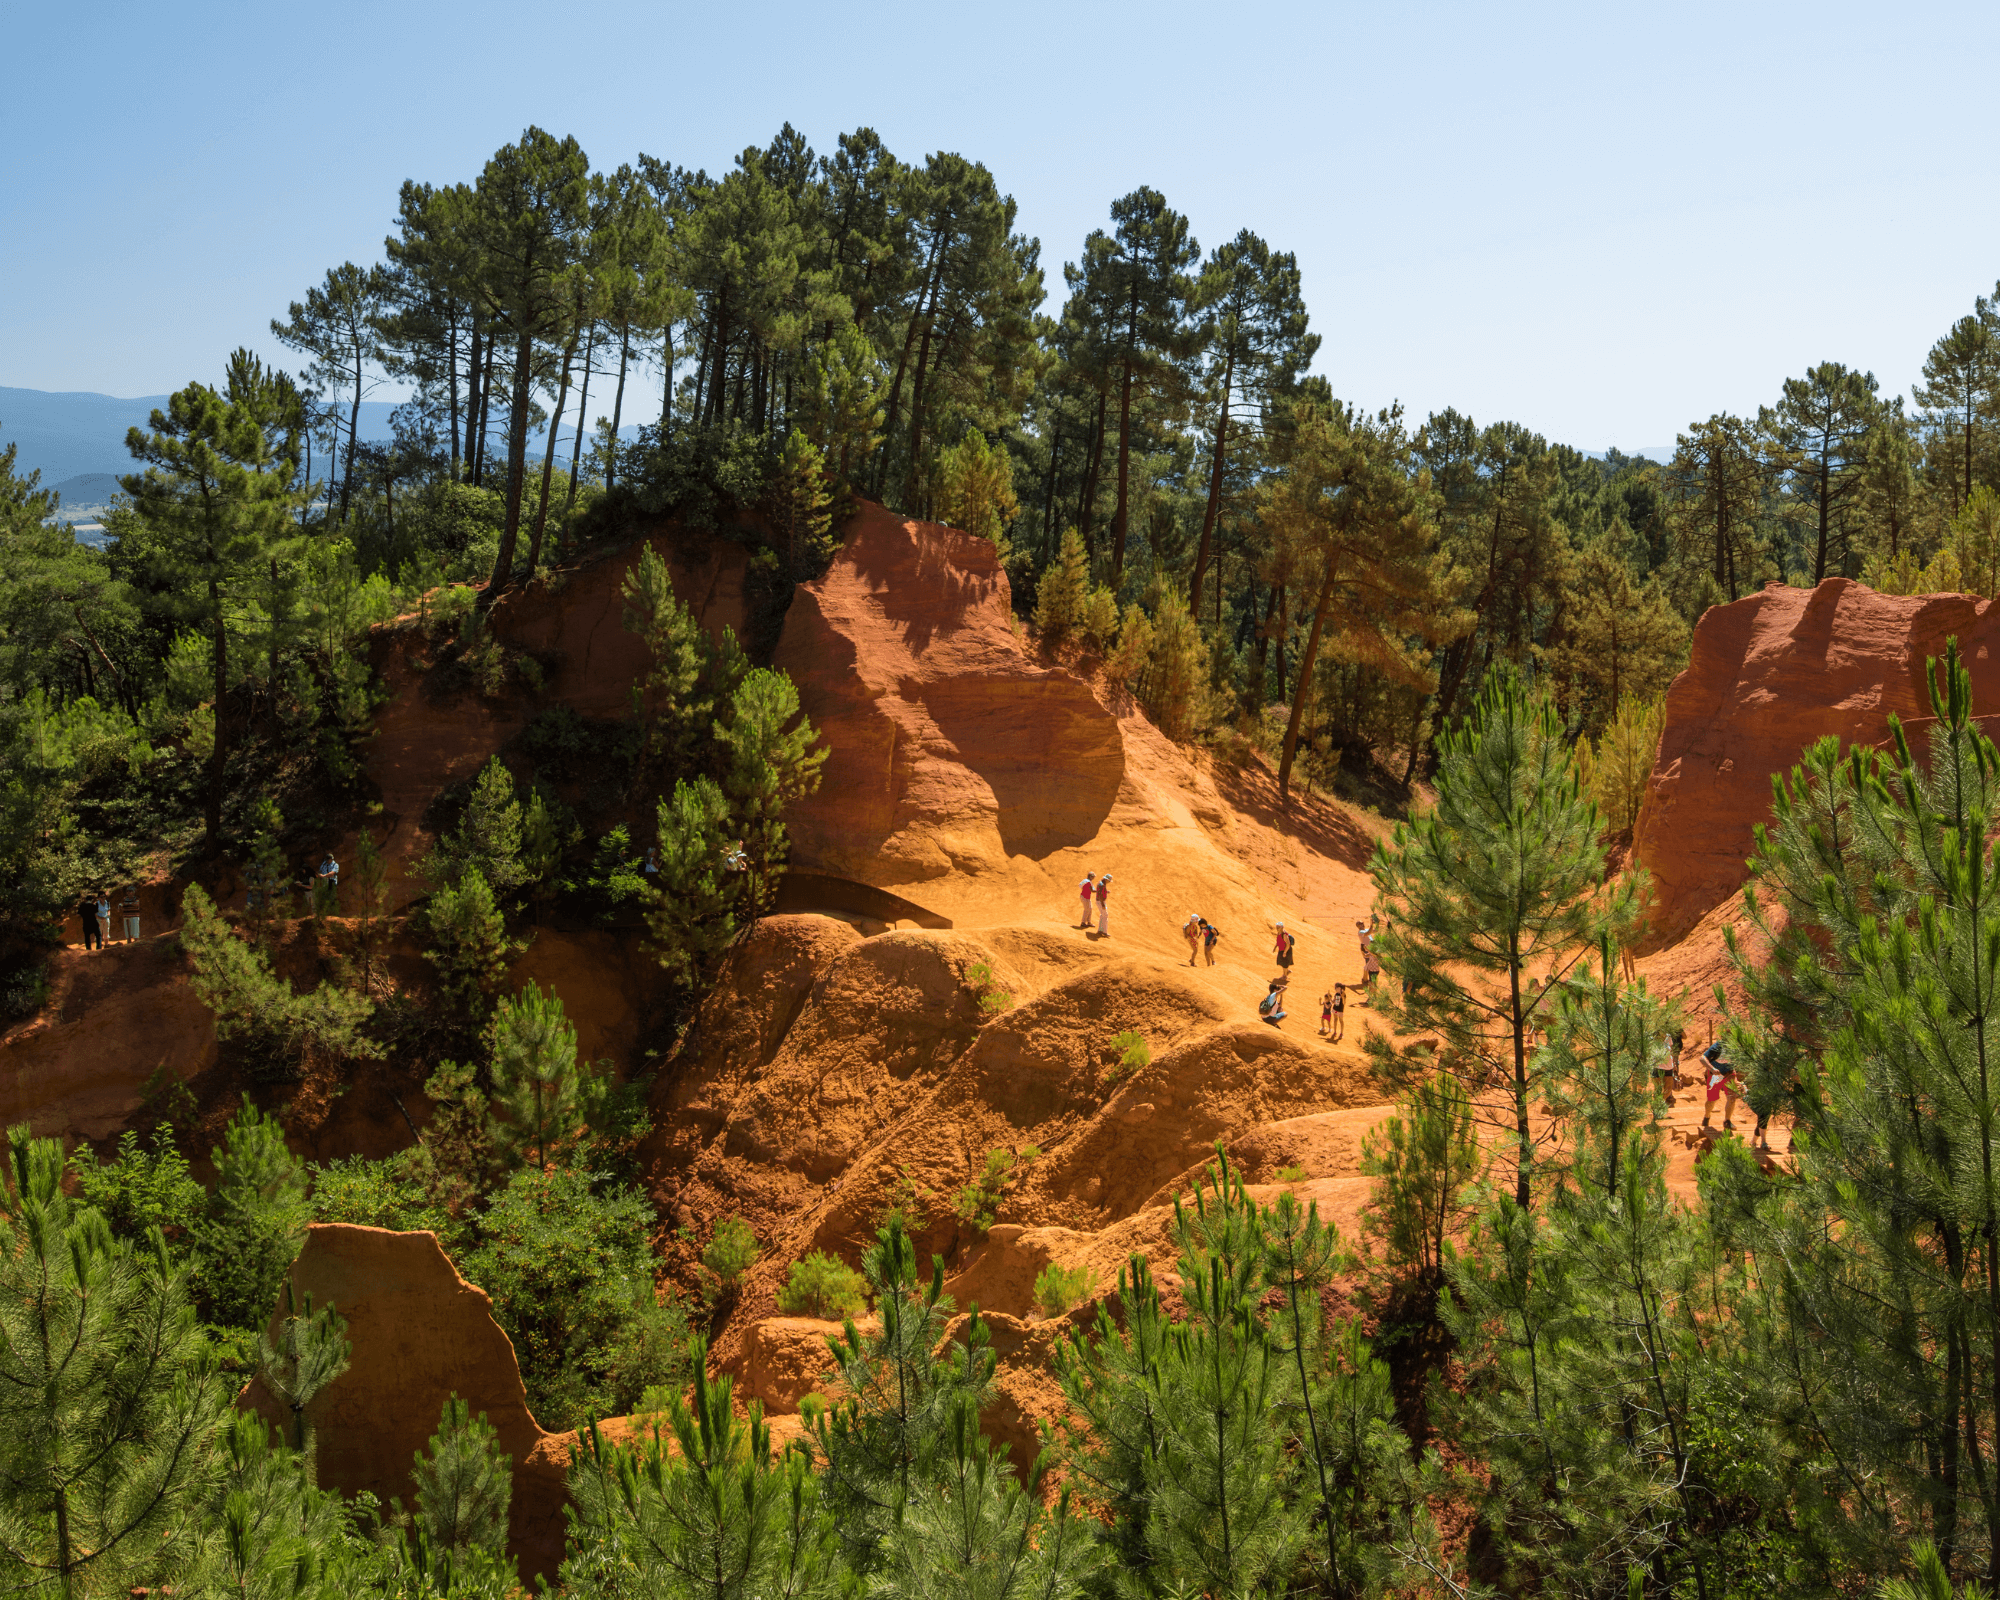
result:
[[[158,1232],[62,1192],[62,1144],[8,1130],[0,1184],[0,1582],[64,1600],[174,1582],[226,1412]]]

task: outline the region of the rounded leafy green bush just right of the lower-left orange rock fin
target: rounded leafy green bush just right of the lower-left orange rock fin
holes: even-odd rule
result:
[[[466,1276],[494,1298],[544,1428],[622,1416],[682,1372],[686,1316],[654,1298],[652,1206],[588,1172],[518,1172],[480,1220]]]

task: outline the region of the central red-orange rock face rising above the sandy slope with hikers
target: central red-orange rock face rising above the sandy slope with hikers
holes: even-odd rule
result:
[[[994,548],[862,506],[784,618],[776,664],[832,754],[786,822],[794,860],[878,888],[1096,836],[1124,780],[1118,720],[1014,628]]]

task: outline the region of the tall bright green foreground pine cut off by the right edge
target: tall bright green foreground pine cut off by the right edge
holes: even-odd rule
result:
[[[1744,1242],[1776,1276],[1774,1410],[1832,1462],[1858,1560],[1922,1526],[1948,1570],[2000,1580],[2000,750],[1956,640],[1926,666],[1918,760],[1812,746],[1774,784],[1732,942],[1754,1010],[1732,1046],[1760,1118],[1796,1120],[1796,1186]]]

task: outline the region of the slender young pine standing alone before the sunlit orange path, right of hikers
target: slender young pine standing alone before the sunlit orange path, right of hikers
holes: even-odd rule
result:
[[[1446,734],[1438,802],[1376,846],[1370,874],[1390,912],[1376,938],[1382,968],[1402,982],[1402,1004],[1376,1004],[1404,1034],[1434,1034],[1398,1054],[1368,1034],[1368,1056],[1392,1084],[1434,1066],[1458,1074],[1478,1102],[1490,1076],[1506,1086],[1514,1140],[1514,1198],[1532,1198],[1536,1134],[1528,1114],[1546,1072],[1530,1036],[1546,1026],[1550,988],[1600,932],[1628,922],[1630,878],[1600,890],[1602,820],[1578,784],[1570,744],[1546,694],[1512,666],[1496,666],[1472,716]],[[1384,986],[1386,990],[1386,986]],[[1488,1118],[1482,1112],[1482,1118]]]

